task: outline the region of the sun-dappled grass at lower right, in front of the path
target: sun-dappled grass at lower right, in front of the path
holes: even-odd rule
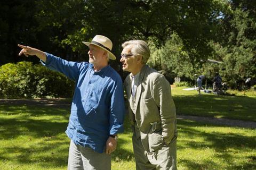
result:
[[[256,130],[186,120],[178,120],[178,130],[178,169],[256,167],[255,161],[248,159],[256,156]]]

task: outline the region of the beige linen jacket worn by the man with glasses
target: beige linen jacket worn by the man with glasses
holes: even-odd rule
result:
[[[169,145],[177,139],[176,111],[170,83],[164,75],[145,65],[140,71],[139,85],[133,100],[131,75],[127,75],[124,81],[129,118],[137,139],[141,137],[144,149],[152,152],[164,143]],[[134,101],[135,114],[131,109],[131,102]]]

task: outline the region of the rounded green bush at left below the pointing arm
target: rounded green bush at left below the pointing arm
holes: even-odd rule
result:
[[[41,64],[19,62],[0,67],[1,97],[71,97],[73,89],[73,81]]]

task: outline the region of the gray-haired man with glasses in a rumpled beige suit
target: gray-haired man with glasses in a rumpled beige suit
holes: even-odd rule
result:
[[[177,169],[176,112],[170,83],[146,65],[150,50],[145,41],[122,45],[124,81],[133,129],[136,169]]]

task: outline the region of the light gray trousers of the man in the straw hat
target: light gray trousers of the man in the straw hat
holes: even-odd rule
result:
[[[111,155],[75,145],[71,140],[68,155],[68,170],[110,170]]]

